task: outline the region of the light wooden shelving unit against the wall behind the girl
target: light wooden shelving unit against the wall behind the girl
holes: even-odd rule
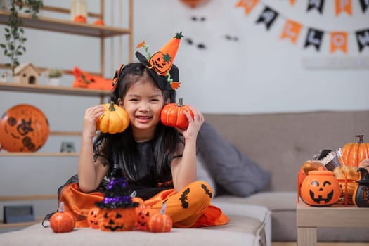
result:
[[[122,0],[121,0],[122,1]],[[75,34],[79,36],[92,37],[100,39],[100,71],[89,72],[93,75],[104,76],[104,65],[105,65],[105,39],[111,37],[118,37],[122,35],[128,35],[128,59],[129,62],[133,61],[134,58],[134,45],[133,45],[133,4],[134,0],[127,0],[128,9],[128,27],[109,27],[93,25],[89,23],[77,23],[70,20],[61,20],[56,18],[48,18],[39,16],[34,19],[29,15],[18,14],[18,18],[22,20],[22,27],[32,28],[37,30],[44,30],[49,32],[60,32],[65,34]],[[88,13],[89,17],[100,18],[104,20],[104,0],[100,0],[100,13]],[[44,11],[54,11],[56,13],[70,13],[70,9],[58,8],[55,6],[44,6]],[[5,25],[8,20],[8,12],[0,11],[0,24]],[[3,27],[0,27],[3,28]],[[0,64],[0,68],[6,68],[4,64]],[[56,67],[53,67],[56,68]],[[41,71],[47,70],[46,67],[42,67]],[[70,71],[63,70],[66,74],[71,74]],[[110,91],[105,90],[93,90],[83,88],[72,88],[67,86],[43,86],[43,85],[21,85],[14,83],[0,82],[0,91],[13,91],[20,93],[47,93],[65,96],[95,96],[101,98],[103,103],[104,98],[110,96]],[[62,136],[79,136],[81,133],[73,131],[51,131],[51,135],[62,135]],[[78,157],[78,153],[0,153],[0,157]],[[57,200],[57,195],[24,195],[24,196],[0,196],[0,202],[9,201],[28,201],[28,200]],[[25,223],[13,223],[4,224],[0,220],[0,228],[13,228],[13,227],[24,227],[31,226],[32,224],[38,223],[43,218],[36,218],[35,221]]]

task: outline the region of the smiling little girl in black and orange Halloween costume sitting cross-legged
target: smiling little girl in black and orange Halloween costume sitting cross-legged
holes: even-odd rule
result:
[[[181,37],[181,34],[176,34],[174,39]],[[175,54],[167,54],[174,59]],[[146,207],[159,211],[165,203],[165,213],[171,216],[174,226],[226,224],[228,217],[210,204],[212,188],[204,181],[196,181],[196,138],[204,122],[203,115],[190,107],[193,117],[185,112],[189,122],[187,129],[167,127],[160,122],[164,105],[175,102],[176,91],[171,83],[174,81],[174,87],[178,87],[178,68],[171,65],[167,72],[160,72],[160,67],[168,61],[164,56],[156,68],[153,60],[141,53],[136,53],[136,56],[140,63],[122,65],[115,73],[111,96],[111,101],[127,111],[129,127],[118,134],[99,133],[94,139],[96,121],[103,115],[104,108],[97,105],[86,110],[78,161],[78,185],[63,188],[60,201],[68,203],[70,200],[70,195],[63,196],[63,191],[78,194],[75,198],[86,194],[86,198],[75,199],[78,201],[73,203],[84,201],[83,206],[92,206],[93,202],[101,200],[101,193],[93,191],[112,171],[113,164],[117,164],[127,177],[129,189],[145,200]],[[77,226],[86,224],[77,223]]]

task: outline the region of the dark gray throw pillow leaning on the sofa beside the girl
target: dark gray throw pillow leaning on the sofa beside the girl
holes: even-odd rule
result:
[[[198,156],[212,178],[232,195],[246,197],[264,188],[270,172],[247,159],[231,143],[219,136],[216,129],[204,122],[198,134]]]

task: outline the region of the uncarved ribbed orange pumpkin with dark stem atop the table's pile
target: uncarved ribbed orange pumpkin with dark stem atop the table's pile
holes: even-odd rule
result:
[[[364,143],[364,135],[355,136],[358,137],[357,143],[347,143],[342,147],[342,160],[339,158],[342,166],[358,167],[362,160],[369,158],[369,143]]]

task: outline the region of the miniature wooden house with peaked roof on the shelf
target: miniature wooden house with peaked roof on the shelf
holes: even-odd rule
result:
[[[13,83],[39,84],[39,70],[32,63],[23,63],[15,67]]]

